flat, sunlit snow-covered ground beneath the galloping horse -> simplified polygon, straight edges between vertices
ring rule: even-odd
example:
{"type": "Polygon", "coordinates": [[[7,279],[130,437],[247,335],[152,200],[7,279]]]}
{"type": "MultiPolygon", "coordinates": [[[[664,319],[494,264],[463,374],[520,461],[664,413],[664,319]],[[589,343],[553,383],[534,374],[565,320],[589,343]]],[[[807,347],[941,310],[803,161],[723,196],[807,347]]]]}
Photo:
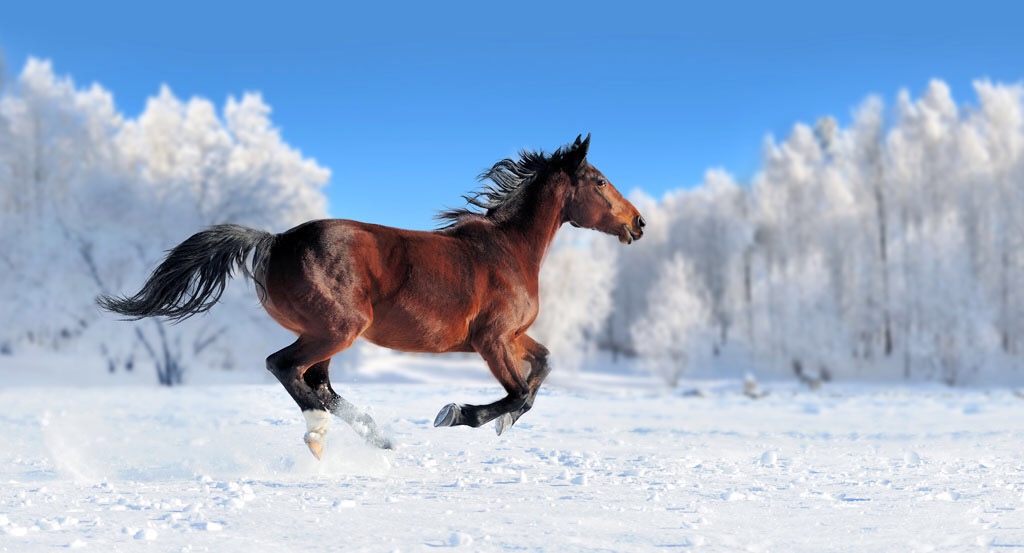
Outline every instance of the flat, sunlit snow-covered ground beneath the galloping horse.
{"type": "Polygon", "coordinates": [[[472,364],[415,363],[344,386],[399,449],[322,462],[278,385],[5,385],[0,551],[1024,551],[1013,390],[560,375],[498,437],[431,426],[496,397],[472,364]]]}

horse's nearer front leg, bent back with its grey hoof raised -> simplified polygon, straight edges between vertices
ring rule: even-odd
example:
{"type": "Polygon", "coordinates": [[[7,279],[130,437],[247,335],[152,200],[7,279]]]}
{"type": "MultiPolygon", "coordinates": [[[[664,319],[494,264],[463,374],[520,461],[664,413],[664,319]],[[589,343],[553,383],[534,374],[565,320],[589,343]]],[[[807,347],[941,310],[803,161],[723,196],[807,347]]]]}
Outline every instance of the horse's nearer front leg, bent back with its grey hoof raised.
{"type": "Polygon", "coordinates": [[[529,385],[523,377],[522,354],[511,340],[487,340],[476,345],[476,351],[487,363],[490,373],[498,379],[507,395],[485,406],[449,403],[434,419],[434,426],[481,426],[522,409],[529,397],[529,385]]]}

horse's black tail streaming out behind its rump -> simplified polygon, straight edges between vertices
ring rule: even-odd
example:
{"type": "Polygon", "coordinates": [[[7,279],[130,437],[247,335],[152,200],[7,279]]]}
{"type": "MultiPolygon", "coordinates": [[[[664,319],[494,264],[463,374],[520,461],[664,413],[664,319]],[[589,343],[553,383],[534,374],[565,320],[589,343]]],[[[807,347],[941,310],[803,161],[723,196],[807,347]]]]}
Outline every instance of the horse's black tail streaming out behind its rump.
{"type": "Polygon", "coordinates": [[[134,296],[100,296],[96,302],[131,318],[166,316],[183,321],[210,310],[236,268],[242,268],[265,292],[265,283],[260,280],[273,240],[274,235],[238,224],[211,226],[171,250],[134,296]],[[251,270],[246,266],[250,252],[251,270]]]}

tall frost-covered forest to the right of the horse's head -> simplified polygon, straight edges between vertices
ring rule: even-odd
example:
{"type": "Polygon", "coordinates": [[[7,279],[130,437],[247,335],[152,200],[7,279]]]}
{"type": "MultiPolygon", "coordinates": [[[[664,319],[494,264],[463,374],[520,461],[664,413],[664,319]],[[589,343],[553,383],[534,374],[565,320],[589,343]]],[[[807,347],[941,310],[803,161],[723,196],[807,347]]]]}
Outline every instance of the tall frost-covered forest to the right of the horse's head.
{"type": "MultiPolygon", "coordinates": [[[[683,256],[707,294],[710,344],[748,353],[759,371],[950,383],[981,367],[1013,371],[1024,336],[1024,86],[979,81],[975,92],[975,104],[957,103],[933,81],[891,109],[869,97],[847,127],[797,124],[766,140],[749,186],[710,172],[647,200],[649,240],[620,263],[683,256]]],[[[601,344],[644,355],[624,329],[657,308],[645,289],[666,283],[624,273],[601,344]]]]}

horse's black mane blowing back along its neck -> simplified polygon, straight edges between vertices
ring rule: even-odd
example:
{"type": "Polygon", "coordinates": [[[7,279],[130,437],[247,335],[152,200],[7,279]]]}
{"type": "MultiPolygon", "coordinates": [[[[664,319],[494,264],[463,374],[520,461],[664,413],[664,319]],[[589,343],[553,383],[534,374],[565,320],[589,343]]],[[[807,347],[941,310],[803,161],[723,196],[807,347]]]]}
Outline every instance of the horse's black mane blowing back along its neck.
{"type": "Polygon", "coordinates": [[[580,139],[577,138],[575,142],[559,147],[551,155],[545,154],[544,151],[521,150],[518,160],[506,158],[477,176],[477,180],[489,180],[490,184],[463,196],[469,204],[467,207],[441,211],[434,218],[440,221],[440,228],[443,229],[456,226],[466,219],[496,220],[500,219],[502,214],[515,213],[519,211],[525,197],[524,192],[529,185],[542,177],[566,168],[570,161],[579,161],[581,158],[573,154],[577,154],[580,147],[586,145],[581,146],[580,139]]]}

